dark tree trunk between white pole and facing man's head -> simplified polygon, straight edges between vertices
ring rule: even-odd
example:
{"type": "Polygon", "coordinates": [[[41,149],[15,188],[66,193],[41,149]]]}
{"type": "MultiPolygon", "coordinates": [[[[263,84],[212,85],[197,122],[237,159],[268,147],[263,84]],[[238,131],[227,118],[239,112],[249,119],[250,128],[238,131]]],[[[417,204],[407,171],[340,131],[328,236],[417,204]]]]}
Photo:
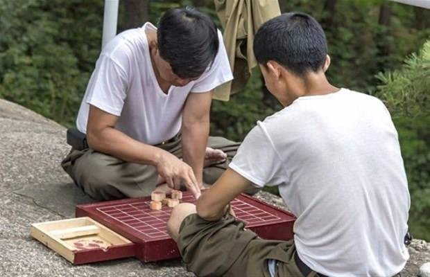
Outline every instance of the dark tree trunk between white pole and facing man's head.
{"type": "Polygon", "coordinates": [[[149,19],[149,0],[123,0],[123,30],[137,28],[149,19]]]}

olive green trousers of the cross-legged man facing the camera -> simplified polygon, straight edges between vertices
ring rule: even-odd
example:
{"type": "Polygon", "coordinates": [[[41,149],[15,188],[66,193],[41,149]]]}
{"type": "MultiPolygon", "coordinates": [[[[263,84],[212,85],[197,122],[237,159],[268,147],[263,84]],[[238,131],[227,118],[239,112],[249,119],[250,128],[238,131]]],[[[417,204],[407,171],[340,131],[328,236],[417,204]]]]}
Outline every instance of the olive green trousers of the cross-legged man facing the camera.
{"type": "MultiPolygon", "coordinates": [[[[203,181],[206,184],[213,184],[227,169],[239,145],[240,143],[222,137],[209,136],[207,146],[223,150],[227,159],[223,163],[204,168],[203,181]]],[[[169,143],[155,146],[182,158],[181,136],[175,136],[169,143]]],[[[129,163],[91,148],[71,149],[61,166],[76,186],[97,200],[148,196],[157,185],[158,175],[154,166],[129,163]]]]}

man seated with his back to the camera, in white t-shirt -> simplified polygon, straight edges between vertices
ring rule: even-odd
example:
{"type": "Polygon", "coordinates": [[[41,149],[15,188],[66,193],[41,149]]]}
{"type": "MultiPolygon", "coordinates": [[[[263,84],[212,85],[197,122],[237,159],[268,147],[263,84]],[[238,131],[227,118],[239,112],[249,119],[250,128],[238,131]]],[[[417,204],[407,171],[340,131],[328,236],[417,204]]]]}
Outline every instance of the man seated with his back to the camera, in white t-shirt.
{"type": "Polygon", "coordinates": [[[187,268],[198,276],[398,274],[408,260],[410,198],[386,107],[329,84],[325,34],[309,15],[266,22],[254,51],[284,109],[257,123],[196,206],[173,209],[167,225],[187,268]],[[227,213],[251,184],[279,185],[297,217],[293,240],[257,238],[227,213]]]}

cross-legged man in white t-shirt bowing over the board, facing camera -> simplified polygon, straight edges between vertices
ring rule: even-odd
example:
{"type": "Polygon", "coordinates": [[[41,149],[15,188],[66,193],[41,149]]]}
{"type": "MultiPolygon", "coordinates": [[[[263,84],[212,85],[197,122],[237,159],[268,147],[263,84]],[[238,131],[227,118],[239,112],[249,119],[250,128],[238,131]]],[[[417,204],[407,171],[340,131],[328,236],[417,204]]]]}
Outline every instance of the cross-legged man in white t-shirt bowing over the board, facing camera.
{"type": "Polygon", "coordinates": [[[212,91],[232,78],[221,32],[198,10],[175,8],[158,29],[120,33],[103,48],[79,109],[84,146],[62,167],[94,199],[149,195],[162,183],[198,197],[239,147],[208,139],[212,91]]]}

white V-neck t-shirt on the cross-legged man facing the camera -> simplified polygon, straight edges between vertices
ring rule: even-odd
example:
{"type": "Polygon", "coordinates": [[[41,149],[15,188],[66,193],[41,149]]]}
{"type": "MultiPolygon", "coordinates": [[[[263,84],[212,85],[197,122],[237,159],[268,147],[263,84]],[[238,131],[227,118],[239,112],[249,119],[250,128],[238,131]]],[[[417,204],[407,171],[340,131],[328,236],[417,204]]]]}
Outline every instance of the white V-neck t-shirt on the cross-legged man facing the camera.
{"type": "Polygon", "coordinates": [[[232,80],[232,72],[218,30],[219,48],[212,66],[196,81],[164,93],[155,78],[145,30],[157,30],[147,22],[126,30],[110,41],[96,62],[80,105],[76,125],[86,133],[89,104],[119,116],[116,129],[155,145],[178,134],[182,108],[188,94],[211,91],[232,80]]]}

